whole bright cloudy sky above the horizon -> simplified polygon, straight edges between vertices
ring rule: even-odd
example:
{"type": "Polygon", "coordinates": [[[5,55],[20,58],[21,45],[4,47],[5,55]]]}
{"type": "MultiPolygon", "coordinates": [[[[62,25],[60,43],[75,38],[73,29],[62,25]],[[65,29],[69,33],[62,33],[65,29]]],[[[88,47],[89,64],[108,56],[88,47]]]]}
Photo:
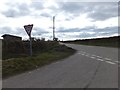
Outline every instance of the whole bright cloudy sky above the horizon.
{"type": "Polygon", "coordinates": [[[33,37],[52,40],[53,16],[56,16],[55,36],[59,40],[118,35],[117,2],[2,0],[0,36],[12,34],[28,39],[23,26],[33,24],[33,37]]]}

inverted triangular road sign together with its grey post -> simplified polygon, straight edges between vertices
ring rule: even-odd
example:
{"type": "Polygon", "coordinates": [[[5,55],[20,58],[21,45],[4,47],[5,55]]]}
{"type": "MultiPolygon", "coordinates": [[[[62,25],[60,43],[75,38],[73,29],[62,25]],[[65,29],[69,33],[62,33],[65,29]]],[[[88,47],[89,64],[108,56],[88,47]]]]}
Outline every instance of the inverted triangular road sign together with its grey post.
{"type": "Polygon", "coordinates": [[[24,25],[24,29],[27,32],[29,39],[30,39],[30,56],[32,56],[32,39],[31,39],[32,28],[33,28],[33,24],[24,25]]]}

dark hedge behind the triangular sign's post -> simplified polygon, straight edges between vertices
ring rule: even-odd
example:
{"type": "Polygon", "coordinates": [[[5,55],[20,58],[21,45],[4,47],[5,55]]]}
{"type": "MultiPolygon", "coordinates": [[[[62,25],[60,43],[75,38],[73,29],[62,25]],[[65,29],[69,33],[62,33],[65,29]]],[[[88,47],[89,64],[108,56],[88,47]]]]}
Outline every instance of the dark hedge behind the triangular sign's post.
{"type": "MultiPolygon", "coordinates": [[[[49,51],[52,47],[58,45],[58,42],[44,41],[44,40],[33,40],[32,50],[33,55],[37,53],[43,53],[49,51]]],[[[29,55],[29,41],[4,41],[3,40],[3,51],[2,59],[25,57],[29,55]]]]}

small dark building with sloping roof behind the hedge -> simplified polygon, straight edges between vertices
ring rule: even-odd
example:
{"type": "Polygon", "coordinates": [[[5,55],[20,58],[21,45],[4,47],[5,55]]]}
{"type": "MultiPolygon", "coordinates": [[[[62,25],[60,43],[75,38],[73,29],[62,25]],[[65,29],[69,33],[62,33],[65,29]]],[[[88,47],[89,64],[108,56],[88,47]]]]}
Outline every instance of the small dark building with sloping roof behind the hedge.
{"type": "Polygon", "coordinates": [[[2,37],[4,40],[8,40],[8,41],[21,41],[22,40],[22,37],[9,35],[9,34],[4,34],[2,35],[2,37]]]}

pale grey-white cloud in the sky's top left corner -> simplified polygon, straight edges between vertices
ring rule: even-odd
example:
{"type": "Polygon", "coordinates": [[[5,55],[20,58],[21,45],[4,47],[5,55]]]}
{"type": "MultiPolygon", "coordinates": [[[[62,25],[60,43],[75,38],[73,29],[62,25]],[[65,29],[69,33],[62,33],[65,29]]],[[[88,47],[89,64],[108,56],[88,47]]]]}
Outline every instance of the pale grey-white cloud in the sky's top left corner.
{"type": "MultiPolygon", "coordinates": [[[[43,2],[40,1],[32,1],[31,3],[27,2],[7,2],[5,3],[7,9],[2,10],[2,14],[6,17],[22,17],[27,15],[32,15],[36,11],[43,9],[43,2]]],[[[34,14],[33,14],[34,15],[34,14]]]]}

